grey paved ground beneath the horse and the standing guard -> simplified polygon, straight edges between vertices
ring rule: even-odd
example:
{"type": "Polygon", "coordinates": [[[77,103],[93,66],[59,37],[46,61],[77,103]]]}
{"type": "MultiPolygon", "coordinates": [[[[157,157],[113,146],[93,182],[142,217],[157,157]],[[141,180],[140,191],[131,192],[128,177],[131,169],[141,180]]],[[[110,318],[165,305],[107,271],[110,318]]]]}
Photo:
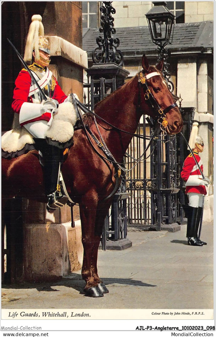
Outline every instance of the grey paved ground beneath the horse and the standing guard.
{"type": "Polygon", "coordinates": [[[203,223],[206,246],[188,246],[185,235],[186,225],[176,233],[129,228],[131,248],[98,253],[109,294],[86,297],[77,271],[55,282],[2,285],[2,309],[212,309],[213,222],[203,223]]]}

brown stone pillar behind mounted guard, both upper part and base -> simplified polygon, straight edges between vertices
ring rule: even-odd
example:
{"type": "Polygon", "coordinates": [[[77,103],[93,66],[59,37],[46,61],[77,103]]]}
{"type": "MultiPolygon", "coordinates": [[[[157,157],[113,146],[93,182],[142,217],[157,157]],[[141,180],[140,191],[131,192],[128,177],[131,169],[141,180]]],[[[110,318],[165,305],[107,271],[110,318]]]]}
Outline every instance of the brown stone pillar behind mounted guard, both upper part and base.
{"type": "MultiPolygon", "coordinates": [[[[42,22],[50,42],[49,69],[66,95],[76,93],[83,101],[83,69],[88,63],[81,49],[81,20],[81,2],[46,2],[42,22]]],[[[68,206],[50,214],[45,204],[24,200],[23,222],[25,280],[58,279],[81,269],[81,225],[78,221],[71,227],[68,206]]]]}

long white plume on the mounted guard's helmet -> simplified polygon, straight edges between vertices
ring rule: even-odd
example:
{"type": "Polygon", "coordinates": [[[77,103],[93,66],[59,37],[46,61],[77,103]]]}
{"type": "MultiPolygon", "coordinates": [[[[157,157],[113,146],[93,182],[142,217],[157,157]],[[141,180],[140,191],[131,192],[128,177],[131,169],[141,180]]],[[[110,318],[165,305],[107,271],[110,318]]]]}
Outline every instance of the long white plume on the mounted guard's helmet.
{"type": "Polygon", "coordinates": [[[44,37],[44,28],[42,24],[42,17],[40,15],[33,15],[32,22],[29,27],[29,32],[26,39],[26,48],[24,54],[24,61],[32,61],[32,52],[35,50],[35,59],[39,60],[39,38],[44,37]]]}

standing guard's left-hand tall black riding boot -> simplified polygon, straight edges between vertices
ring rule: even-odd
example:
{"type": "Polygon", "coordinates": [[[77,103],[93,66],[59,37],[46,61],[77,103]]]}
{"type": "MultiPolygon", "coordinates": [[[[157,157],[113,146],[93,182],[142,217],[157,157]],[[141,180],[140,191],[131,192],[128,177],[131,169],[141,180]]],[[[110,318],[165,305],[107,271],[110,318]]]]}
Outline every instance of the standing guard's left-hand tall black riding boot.
{"type": "Polygon", "coordinates": [[[197,207],[190,207],[188,210],[188,217],[187,217],[187,242],[188,245],[191,246],[202,246],[203,244],[197,240],[195,237],[195,225],[196,225],[196,217],[197,217],[198,208],[197,207]]]}

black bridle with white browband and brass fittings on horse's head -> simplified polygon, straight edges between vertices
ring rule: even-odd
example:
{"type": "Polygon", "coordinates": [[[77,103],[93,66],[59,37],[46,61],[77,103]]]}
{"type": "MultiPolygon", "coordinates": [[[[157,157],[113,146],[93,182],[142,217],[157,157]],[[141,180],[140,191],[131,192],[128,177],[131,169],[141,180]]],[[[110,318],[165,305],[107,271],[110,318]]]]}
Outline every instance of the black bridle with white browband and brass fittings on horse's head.
{"type": "MultiPolygon", "coordinates": [[[[166,120],[166,113],[168,113],[168,111],[170,111],[171,109],[175,108],[175,106],[177,106],[177,103],[174,102],[173,104],[169,105],[164,110],[162,110],[160,108],[160,106],[158,105],[156,99],[152,95],[152,93],[151,93],[151,91],[150,91],[150,89],[149,89],[149,87],[146,83],[146,80],[152,78],[153,76],[162,76],[162,75],[159,72],[154,71],[154,72],[151,72],[150,74],[147,74],[145,76],[144,73],[143,73],[143,70],[141,70],[139,72],[138,84],[141,85],[141,86],[139,86],[139,88],[142,87],[143,90],[144,90],[145,100],[149,103],[149,105],[153,108],[153,110],[157,112],[157,115],[156,115],[157,121],[160,125],[161,131],[166,132],[166,127],[168,125],[168,121],[166,120]]],[[[139,104],[140,104],[140,99],[141,99],[141,90],[139,90],[139,104]]]]}

